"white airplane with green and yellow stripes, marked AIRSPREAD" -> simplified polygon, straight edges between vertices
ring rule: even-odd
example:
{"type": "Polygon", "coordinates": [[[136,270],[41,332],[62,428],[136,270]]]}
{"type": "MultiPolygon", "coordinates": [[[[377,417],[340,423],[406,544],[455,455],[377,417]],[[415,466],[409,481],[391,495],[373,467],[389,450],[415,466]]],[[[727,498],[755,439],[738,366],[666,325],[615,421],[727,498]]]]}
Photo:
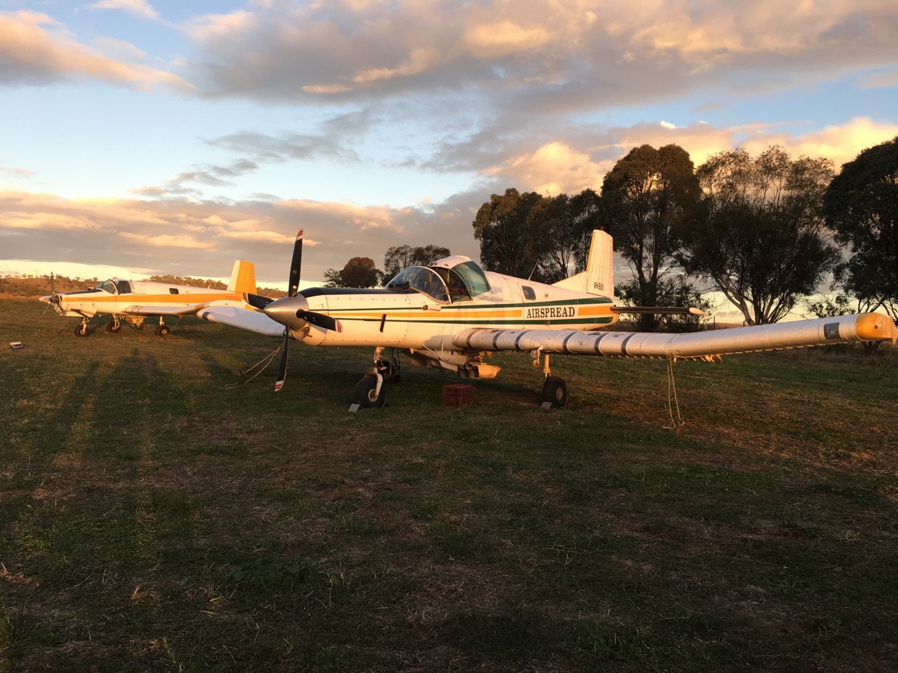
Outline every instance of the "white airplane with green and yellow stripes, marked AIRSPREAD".
{"type": "Polygon", "coordinates": [[[302,252],[300,230],[286,297],[247,295],[257,313],[209,306],[198,315],[284,337],[275,390],[286,379],[291,337],[306,345],[374,346],[371,371],[355,389],[357,404],[365,407],[384,405],[383,382],[400,373],[396,350],[412,363],[471,379],[497,375],[499,367],[486,362],[489,354],[528,352],[534,367],[544,358],[544,402],[564,406],[567,385],[551,375],[550,354],[713,361],[723,354],[898,340],[893,320],[878,313],[687,334],[608,331],[603,328],[621,313],[700,311],[615,303],[612,237],[602,230],[593,232],[586,270],[550,285],[484,271],[471,258],[454,255],[429,267],[409,267],[382,289],[313,287],[300,293],[302,252]],[[386,348],[394,349],[392,358],[384,356],[386,348]]]}

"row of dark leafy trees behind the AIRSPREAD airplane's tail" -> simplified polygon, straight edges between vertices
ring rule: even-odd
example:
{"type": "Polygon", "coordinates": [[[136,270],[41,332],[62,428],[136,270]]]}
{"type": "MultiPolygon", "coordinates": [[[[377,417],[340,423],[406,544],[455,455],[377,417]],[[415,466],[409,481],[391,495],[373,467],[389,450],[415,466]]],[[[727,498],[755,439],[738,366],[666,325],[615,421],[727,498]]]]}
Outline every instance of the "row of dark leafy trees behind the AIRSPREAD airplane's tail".
{"type": "MultiPolygon", "coordinates": [[[[643,306],[701,306],[697,283],[726,296],[751,325],[776,322],[832,277],[817,310],[898,308],[898,138],[832,162],[779,146],[709,157],[679,145],[633,148],[602,191],[543,197],[506,189],[472,223],[483,267],[552,283],[585,267],[603,226],[632,272],[615,291],[643,306]]],[[[658,318],[640,316],[640,328],[658,318]]]]}

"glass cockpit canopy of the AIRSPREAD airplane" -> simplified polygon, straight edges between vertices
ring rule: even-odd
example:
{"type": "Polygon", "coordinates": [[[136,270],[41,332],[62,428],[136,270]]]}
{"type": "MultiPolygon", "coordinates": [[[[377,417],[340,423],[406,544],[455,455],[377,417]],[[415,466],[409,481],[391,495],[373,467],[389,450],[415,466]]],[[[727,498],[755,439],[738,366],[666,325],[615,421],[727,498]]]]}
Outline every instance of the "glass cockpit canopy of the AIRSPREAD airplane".
{"type": "Polygon", "coordinates": [[[415,290],[437,302],[470,302],[489,292],[489,281],[477,263],[463,255],[437,259],[431,267],[409,267],[387,285],[391,290],[415,290]]]}

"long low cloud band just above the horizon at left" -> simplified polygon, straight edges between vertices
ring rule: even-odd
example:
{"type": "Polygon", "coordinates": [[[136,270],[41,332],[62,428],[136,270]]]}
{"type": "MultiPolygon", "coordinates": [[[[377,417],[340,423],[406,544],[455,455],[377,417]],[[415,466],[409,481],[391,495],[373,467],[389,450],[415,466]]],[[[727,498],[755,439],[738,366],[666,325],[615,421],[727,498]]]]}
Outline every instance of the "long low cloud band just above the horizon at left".
{"type": "MultiPolygon", "coordinates": [[[[4,258],[154,269],[219,277],[237,258],[256,264],[260,282],[286,280],[296,231],[315,250],[304,257],[304,280],[321,283],[326,268],[342,268],[365,254],[380,263],[386,249],[409,242],[445,245],[452,228],[422,240],[416,231],[438,215],[413,208],[289,201],[67,199],[53,194],[0,191],[0,248],[4,258]],[[110,252],[111,251],[111,252],[110,252]]],[[[476,251],[465,228],[467,254],[476,251]]]]}

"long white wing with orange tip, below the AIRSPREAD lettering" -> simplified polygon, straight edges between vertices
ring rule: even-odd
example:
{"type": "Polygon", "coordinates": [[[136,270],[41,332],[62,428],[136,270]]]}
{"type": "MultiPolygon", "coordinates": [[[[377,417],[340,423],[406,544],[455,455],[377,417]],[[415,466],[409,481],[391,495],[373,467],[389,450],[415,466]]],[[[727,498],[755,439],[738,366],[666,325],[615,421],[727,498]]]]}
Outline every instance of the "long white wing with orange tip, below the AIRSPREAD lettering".
{"type": "Polygon", "coordinates": [[[898,341],[894,321],[880,313],[859,313],[686,334],[472,328],[455,335],[453,343],[486,351],[539,349],[543,353],[712,360],[726,354],[885,339],[898,341]]]}

